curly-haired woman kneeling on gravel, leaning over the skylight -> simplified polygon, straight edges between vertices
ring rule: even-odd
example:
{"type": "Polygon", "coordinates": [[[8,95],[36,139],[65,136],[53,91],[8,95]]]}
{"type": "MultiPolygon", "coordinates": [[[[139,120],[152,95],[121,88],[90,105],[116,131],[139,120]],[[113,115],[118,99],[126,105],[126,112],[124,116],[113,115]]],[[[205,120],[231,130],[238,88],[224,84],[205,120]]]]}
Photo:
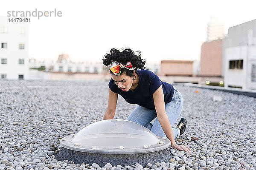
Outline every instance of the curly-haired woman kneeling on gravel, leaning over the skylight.
{"type": "Polygon", "coordinates": [[[138,105],[127,120],[147,127],[157,136],[167,136],[173,148],[192,153],[188,146],[175,142],[186,129],[186,119],[180,119],[177,127],[172,127],[183,107],[180,92],[160,81],[153,72],[144,70],[145,60],[140,58],[140,52],[136,55],[129,48],[121,52],[113,48],[102,60],[112,77],[108,84],[108,108],[104,119],[113,119],[120,94],[126,102],[138,105]]]}

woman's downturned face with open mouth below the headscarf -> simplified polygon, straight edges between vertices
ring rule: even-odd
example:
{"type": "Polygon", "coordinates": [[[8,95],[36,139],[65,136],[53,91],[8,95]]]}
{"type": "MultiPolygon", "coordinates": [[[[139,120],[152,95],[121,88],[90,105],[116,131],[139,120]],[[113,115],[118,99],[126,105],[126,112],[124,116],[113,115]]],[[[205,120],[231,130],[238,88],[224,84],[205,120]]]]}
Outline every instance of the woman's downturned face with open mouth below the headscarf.
{"type": "Polygon", "coordinates": [[[116,76],[114,74],[111,74],[112,79],[118,86],[118,88],[121,88],[122,91],[129,91],[131,89],[133,78],[124,74],[121,74],[120,76],[116,76]]]}

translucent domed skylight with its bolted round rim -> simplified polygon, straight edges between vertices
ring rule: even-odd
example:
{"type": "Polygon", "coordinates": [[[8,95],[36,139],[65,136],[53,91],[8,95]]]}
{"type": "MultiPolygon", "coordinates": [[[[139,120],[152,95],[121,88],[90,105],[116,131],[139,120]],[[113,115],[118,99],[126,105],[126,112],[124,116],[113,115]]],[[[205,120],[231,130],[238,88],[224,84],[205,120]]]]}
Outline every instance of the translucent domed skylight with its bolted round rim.
{"type": "Polygon", "coordinates": [[[90,153],[145,153],[170,146],[169,139],[157,137],[137,123],[108,119],[81,129],[75,136],[66,136],[61,146],[90,153]]]}

